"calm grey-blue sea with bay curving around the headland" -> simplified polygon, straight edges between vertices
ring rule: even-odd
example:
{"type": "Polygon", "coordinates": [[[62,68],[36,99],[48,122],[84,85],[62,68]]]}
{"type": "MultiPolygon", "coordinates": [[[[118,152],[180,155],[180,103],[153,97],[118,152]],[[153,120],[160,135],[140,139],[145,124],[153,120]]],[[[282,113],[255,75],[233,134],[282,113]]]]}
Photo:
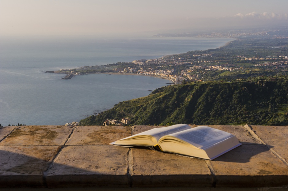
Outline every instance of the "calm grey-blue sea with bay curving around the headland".
{"type": "Polygon", "coordinates": [[[159,77],[88,74],[63,80],[45,73],[132,62],[224,46],[229,38],[154,36],[0,37],[0,124],[64,125],[148,96],[159,77]]]}

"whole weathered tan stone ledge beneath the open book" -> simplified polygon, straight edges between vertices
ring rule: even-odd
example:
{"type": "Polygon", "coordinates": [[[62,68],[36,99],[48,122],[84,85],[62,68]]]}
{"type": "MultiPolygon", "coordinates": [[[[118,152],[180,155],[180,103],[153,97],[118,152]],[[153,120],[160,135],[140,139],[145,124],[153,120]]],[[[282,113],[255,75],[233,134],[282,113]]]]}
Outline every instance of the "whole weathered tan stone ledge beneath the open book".
{"type": "Polygon", "coordinates": [[[0,187],[288,185],[288,126],[210,126],[243,145],[209,161],[108,145],[154,126],[0,127],[0,187]]]}

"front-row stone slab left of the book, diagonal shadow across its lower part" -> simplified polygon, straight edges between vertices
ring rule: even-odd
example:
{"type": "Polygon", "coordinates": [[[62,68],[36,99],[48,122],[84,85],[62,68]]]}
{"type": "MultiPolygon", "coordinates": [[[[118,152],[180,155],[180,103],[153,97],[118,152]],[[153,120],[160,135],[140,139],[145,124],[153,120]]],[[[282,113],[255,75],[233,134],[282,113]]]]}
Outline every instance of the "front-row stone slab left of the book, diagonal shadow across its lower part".
{"type": "Polygon", "coordinates": [[[66,146],[46,172],[53,187],[127,187],[129,148],[112,145],[66,146]]]}

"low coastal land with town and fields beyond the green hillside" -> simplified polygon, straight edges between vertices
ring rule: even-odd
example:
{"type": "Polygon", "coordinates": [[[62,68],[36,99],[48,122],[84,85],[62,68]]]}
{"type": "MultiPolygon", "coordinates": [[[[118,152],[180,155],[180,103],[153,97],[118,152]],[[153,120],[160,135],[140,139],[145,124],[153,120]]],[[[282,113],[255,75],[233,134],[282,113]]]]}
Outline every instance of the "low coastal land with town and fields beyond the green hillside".
{"type": "MultiPolygon", "coordinates": [[[[47,71],[67,74],[62,79],[90,73],[149,75],[169,79],[171,84],[194,81],[249,80],[253,77],[286,76],[288,54],[286,28],[232,30],[226,32],[169,34],[171,37],[233,38],[223,47],[138,59],[108,65],[47,71]]],[[[163,34],[155,35],[162,37],[163,34]]],[[[164,35],[164,36],[167,36],[164,35]]]]}

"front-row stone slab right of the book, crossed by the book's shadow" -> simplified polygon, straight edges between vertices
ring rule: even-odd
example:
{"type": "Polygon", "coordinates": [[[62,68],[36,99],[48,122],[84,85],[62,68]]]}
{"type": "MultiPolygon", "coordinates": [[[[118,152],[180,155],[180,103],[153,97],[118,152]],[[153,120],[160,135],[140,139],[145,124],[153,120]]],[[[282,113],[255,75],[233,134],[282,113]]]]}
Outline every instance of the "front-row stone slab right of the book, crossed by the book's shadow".
{"type": "Polygon", "coordinates": [[[288,185],[288,167],[263,144],[243,144],[210,163],[216,187],[288,185]]]}

